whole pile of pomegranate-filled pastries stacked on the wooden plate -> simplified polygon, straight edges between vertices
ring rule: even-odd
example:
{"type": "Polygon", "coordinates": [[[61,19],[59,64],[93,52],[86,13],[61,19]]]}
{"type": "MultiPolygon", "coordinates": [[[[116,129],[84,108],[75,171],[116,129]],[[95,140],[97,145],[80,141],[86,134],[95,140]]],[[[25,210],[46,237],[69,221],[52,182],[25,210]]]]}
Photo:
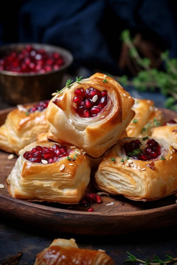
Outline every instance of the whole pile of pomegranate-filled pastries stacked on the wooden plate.
{"type": "Polygon", "coordinates": [[[18,142],[25,139],[23,145],[15,143],[11,149],[5,147],[6,151],[17,152],[27,143],[38,141],[20,151],[8,177],[11,196],[78,203],[89,184],[93,165],[99,165],[95,174],[97,187],[110,194],[145,201],[176,192],[172,163],[177,159],[177,128],[175,121],[160,126],[162,113],[153,101],[136,99],[134,105],[134,99],[118,82],[100,73],[72,84],[68,81],[55,94],[46,111],[49,130],[39,129],[40,123],[32,127],[34,130],[39,126],[34,131],[42,133],[40,137],[35,133],[35,139],[29,137],[26,141],[28,119],[36,115],[40,120],[38,110],[28,111],[29,115],[20,112],[23,118],[19,115],[18,123],[26,120],[24,131],[20,127],[18,132],[14,129],[11,113],[2,126],[6,126],[6,138],[5,133],[1,135],[7,146],[13,145],[10,135],[15,135],[18,142]],[[126,133],[129,138],[124,138],[126,133]],[[174,136],[171,141],[169,133],[174,136]]]}

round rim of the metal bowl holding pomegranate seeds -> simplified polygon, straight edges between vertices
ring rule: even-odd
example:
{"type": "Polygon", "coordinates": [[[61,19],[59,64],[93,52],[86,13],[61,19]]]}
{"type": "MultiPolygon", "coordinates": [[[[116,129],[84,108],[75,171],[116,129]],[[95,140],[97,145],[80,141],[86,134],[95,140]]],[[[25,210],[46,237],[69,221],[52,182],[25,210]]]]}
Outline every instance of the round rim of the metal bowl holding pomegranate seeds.
{"type": "Polygon", "coordinates": [[[55,46],[52,44],[48,44],[48,43],[39,43],[39,42],[16,42],[16,43],[10,43],[10,44],[5,44],[5,45],[1,45],[0,46],[0,51],[3,51],[4,49],[7,48],[13,48],[19,45],[40,45],[42,47],[48,46],[51,48],[55,48],[56,50],[58,50],[58,53],[60,53],[61,55],[65,55],[68,59],[67,62],[65,62],[59,69],[57,70],[52,70],[49,72],[45,72],[45,73],[39,73],[39,72],[30,72],[30,73],[18,73],[18,72],[12,72],[12,71],[6,71],[6,70],[0,70],[0,74],[4,74],[4,75],[8,75],[8,76],[21,76],[21,77],[29,77],[29,76],[41,76],[41,75],[48,75],[48,74],[52,74],[52,73],[56,73],[59,72],[60,70],[64,70],[67,67],[69,67],[72,62],[73,62],[73,55],[70,51],[68,51],[67,49],[60,47],[60,46],[55,46]]]}

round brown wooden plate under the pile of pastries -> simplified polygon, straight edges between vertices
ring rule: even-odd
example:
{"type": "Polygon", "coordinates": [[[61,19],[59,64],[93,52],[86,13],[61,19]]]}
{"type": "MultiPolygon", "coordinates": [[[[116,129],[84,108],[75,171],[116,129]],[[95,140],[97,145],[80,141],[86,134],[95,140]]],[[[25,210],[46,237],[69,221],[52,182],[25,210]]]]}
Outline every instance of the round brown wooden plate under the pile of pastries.
{"type": "MultiPolygon", "coordinates": [[[[0,111],[0,125],[8,112],[0,111]]],[[[177,113],[162,109],[165,121],[177,117],[177,113]]],[[[8,160],[8,153],[0,151],[0,189],[1,215],[12,221],[34,225],[43,229],[63,233],[107,235],[123,234],[176,224],[177,204],[175,195],[154,202],[130,201],[123,196],[103,197],[102,204],[94,204],[95,212],[85,212],[81,205],[59,203],[32,203],[13,199],[7,191],[6,178],[12,170],[17,157],[8,160]],[[113,205],[106,204],[114,202],[113,205]]]]}

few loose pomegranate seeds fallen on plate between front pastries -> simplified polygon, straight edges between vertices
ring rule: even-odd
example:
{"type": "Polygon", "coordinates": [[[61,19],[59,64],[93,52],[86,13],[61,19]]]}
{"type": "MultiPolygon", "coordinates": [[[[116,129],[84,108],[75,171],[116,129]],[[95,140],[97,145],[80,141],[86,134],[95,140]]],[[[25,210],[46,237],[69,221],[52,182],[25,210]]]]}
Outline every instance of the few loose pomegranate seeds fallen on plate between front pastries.
{"type": "MultiPolygon", "coordinates": [[[[84,198],[80,201],[80,204],[88,207],[91,203],[102,203],[102,197],[94,192],[86,192],[84,198]]],[[[87,211],[94,212],[94,209],[89,208],[87,211]]]]}

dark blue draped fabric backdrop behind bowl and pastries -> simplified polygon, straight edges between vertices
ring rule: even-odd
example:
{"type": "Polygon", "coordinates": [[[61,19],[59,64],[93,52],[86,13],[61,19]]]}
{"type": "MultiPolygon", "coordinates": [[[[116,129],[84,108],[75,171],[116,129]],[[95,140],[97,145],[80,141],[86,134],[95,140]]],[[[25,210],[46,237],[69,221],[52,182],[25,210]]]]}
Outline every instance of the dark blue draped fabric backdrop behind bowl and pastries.
{"type": "MultiPolygon", "coordinates": [[[[4,2],[4,1],[3,1],[4,2]]],[[[141,32],[177,57],[175,7],[169,0],[29,0],[3,3],[0,44],[43,42],[67,48],[75,67],[120,73],[123,29],[141,32]]]]}

